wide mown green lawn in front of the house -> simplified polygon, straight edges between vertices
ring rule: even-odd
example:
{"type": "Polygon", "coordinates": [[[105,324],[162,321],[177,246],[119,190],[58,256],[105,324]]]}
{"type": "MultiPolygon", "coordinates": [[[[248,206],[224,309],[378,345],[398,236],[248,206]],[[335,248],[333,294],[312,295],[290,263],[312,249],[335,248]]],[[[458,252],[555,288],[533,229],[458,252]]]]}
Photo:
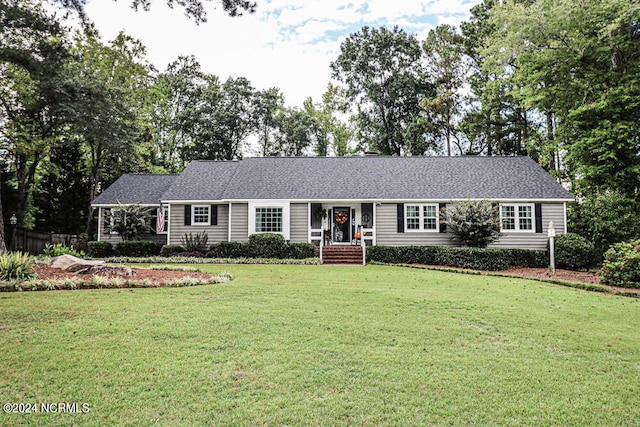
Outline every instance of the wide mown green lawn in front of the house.
{"type": "Polygon", "coordinates": [[[640,302],[400,267],[0,294],[0,425],[640,425],[640,302]],[[71,407],[74,409],[74,407],[71,407]]]}

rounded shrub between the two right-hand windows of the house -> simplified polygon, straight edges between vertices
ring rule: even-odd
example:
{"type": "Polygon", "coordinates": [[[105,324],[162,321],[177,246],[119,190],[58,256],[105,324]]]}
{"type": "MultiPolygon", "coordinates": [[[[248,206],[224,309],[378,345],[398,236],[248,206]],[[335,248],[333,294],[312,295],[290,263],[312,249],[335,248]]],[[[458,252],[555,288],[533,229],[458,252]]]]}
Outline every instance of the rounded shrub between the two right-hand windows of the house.
{"type": "Polygon", "coordinates": [[[464,246],[485,248],[500,237],[500,213],[487,200],[456,202],[443,212],[447,232],[464,246]]]}

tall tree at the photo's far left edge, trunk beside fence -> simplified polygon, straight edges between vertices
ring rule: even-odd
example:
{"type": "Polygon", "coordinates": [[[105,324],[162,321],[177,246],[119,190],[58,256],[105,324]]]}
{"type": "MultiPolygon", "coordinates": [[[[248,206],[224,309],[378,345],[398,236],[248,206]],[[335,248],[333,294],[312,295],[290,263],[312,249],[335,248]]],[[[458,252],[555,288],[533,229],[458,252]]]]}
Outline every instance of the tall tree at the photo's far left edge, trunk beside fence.
{"type": "Polygon", "coordinates": [[[69,57],[65,30],[39,4],[0,3],[2,155],[14,172],[18,225],[32,222],[27,213],[38,167],[58,142],[69,57]]]}

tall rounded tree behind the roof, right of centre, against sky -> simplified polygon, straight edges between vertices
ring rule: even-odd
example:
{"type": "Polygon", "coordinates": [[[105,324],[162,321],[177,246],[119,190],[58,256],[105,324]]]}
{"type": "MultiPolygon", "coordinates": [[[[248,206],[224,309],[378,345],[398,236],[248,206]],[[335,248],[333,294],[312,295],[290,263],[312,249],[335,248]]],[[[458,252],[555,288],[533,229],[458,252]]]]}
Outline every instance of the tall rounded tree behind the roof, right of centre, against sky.
{"type": "Polygon", "coordinates": [[[397,27],[364,27],[342,43],[332,76],[355,104],[361,144],[388,155],[433,148],[421,118],[420,101],[434,93],[423,59],[417,38],[397,27]]]}

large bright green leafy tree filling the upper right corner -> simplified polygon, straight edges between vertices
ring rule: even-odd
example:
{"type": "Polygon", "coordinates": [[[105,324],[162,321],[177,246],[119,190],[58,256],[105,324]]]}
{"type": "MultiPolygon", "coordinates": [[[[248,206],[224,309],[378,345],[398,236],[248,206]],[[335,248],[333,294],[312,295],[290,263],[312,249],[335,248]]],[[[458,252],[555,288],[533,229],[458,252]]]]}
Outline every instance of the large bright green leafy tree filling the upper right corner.
{"type": "Polygon", "coordinates": [[[544,117],[550,166],[566,150],[577,189],[637,197],[640,1],[505,2],[492,15],[483,53],[544,117]]]}

